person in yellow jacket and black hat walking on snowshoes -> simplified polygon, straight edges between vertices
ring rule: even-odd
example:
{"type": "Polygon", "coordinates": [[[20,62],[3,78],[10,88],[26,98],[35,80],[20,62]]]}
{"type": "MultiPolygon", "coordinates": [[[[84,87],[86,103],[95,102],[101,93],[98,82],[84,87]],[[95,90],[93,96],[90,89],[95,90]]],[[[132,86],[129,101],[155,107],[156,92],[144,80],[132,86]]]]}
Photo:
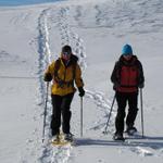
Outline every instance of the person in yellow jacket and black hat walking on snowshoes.
{"type": "Polygon", "coordinates": [[[82,71],[77,63],[78,58],[72,53],[70,46],[62,48],[61,57],[53,61],[45,73],[45,82],[51,82],[51,98],[52,98],[52,118],[51,134],[52,138],[57,139],[60,135],[61,115],[62,115],[62,131],[65,139],[71,139],[71,103],[76,91],[76,84],[79,96],[85,96],[84,82],[82,71]]]}

